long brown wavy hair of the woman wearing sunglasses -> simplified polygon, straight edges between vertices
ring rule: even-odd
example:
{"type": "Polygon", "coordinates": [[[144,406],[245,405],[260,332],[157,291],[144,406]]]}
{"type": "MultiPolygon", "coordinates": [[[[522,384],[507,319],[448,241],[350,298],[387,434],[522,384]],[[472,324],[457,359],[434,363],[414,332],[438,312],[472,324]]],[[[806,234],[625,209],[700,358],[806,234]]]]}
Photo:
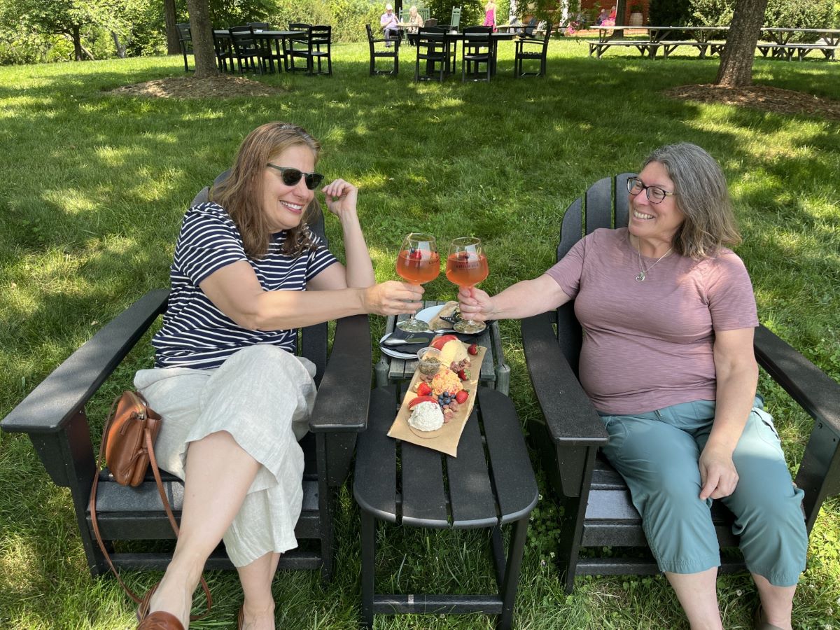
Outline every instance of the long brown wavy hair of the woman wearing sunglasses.
{"type": "MultiPolygon", "coordinates": [[[[239,145],[230,175],[210,192],[210,200],[227,210],[239,228],[249,258],[265,256],[271,240],[272,230],[262,208],[265,165],[286,149],[301,145],[311,149],[318,162],[321,144],[305,129],[290,123],[266,123],[254,129],[239,145]]],[[[283,254],[299,256],[315,248],[307,223],[318,212],[320,206],[313,197],[303,209],[301,223],[286,230],[286,241],[281,248],[283,254]]]]}

